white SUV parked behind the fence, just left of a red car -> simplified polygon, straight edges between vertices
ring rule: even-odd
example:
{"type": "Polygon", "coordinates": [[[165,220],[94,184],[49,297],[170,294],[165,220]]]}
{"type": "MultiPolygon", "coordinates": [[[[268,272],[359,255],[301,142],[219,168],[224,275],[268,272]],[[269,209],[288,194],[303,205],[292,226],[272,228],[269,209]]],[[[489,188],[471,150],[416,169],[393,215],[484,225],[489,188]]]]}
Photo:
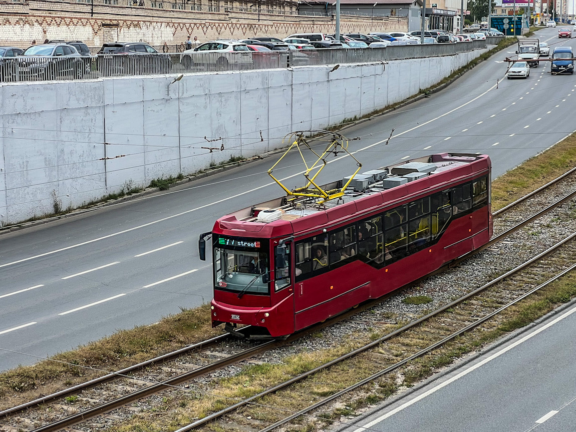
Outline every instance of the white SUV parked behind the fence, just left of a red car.
{"type": "MultiPolygon", "coordinates": [[[[258,45],[266,46],[267,42],[258,45]]],[[[252,54],[245,43],[214,40],[183,52],[182,65],[188,69],[195,66],[217,68],[220,70],[245,69],[252,65],[252,54]]]]}

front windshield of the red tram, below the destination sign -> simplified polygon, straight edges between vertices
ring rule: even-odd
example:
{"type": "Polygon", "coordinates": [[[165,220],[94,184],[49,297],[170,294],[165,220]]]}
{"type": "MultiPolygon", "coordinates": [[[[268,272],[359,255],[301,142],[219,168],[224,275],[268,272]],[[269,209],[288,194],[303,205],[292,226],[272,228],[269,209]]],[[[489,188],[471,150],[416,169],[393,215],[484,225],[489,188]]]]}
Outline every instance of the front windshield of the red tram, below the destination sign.
{"type": "Polygon", "coordinates": [[[270,270],[268,253],[214,248],[214,276],[217,289],[238,294],[268,294],[270,270]]]}

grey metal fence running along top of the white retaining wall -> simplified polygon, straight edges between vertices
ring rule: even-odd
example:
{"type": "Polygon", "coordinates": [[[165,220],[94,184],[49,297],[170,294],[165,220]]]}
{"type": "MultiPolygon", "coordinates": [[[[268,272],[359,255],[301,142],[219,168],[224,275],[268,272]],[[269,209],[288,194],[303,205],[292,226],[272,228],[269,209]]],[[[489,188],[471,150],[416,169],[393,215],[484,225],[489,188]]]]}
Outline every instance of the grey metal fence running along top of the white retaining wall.
{"type": "MultiPolygon", "coordinates": [[[[502,38],[492,38],[502,39],[502,38]]],[[[290,51],[187,52],[168,54],[98,54],[87,57],[20,56],[0,59],[0,81],[46,81],[134,75],[278,69],[291,66],[377,62],[453,55],[485,48],[497,40],[386,48],[290,51]]]]}

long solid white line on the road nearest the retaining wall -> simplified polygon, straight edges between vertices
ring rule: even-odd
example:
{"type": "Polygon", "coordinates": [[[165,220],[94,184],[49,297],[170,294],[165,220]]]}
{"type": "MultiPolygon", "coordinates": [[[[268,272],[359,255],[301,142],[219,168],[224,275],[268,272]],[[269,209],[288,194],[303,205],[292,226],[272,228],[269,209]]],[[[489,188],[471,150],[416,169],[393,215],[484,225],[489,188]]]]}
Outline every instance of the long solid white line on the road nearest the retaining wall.
{"type": "MultiPolygon", "coordinates": [[[[435,122],[435,121],[438,120],[438,119],[441,119],[441,118],[443,118],[443,117],[445,117],[445,116],[447,116],[447,115],[449,115],[449,114],[452,114],[453,112],[458,111],[458,109],[464,108],[466,105],[469,105],[469,104],[471,104],[472,102],[477,101],[479,98],[481,98],[482,96],[484,96],[485,94],[487,94],[487,93],[490,92],[491,90],[494,90],[495,88],[497,88],[498,84],[501,84],[501,83],[504,81],[504,79],[505,79],[504,77],[501,78],[501,79],[499,79],[499,80],[496,82],[496,84],[492,85],[488,90],[486,90],[486,92],[480,93],[478,96],[473,97],[473,98],[472,98],[471,100],[469,100],[468,102],[465,102],[465,103],[463,103],[462,105],[460,105],[460,106],[458,106],[458,107],[456,107],[456,108],[450,109],[450,111],[446,111],[444,114],[441,114],[441,115],[439,115],[439,116],[437,116],[437,117],[435,117],[435,118],[433,118],[433,119],[427,120],[427,121],[424,122],[424,123],[420,123],[420,124],[418,124],[418,126],[414,126],[414,127],[410,128],[410,129],[408,129],[408,130],[405,130],[404,132],[400,132],[399,134],[393,135],[392,137],[389,137],[389,138],[386,138],[386,139],[382,139],[381,141],[377,141],[377,142],[375,142],[375,143],[373,143],[373,144],[367,145],[366,147],[362,147],[361,149],[352,151],[351,154],[356,154],[356,153],[359,153],[359,152],[364,151],[364,150],[372,149],[372,147],[377,146],[377,145],[380,145],[380,144],[383,143],[383,142],[389,141],[389,140],[392,139],[392,138],[401,137],[402,135],[408,134],[409,132],[412,132],[412,131],[420,128],[420,127],[426,126],[426,125],[429,124],[429,123],[435,122]]],[[[504,108],[504,109],[506,109],[506,108],[504,108]]],[[[337,162],[337,161],[339,161],[340,159],[343,159],[344,157],[347,157],[347,155],[346,155],[346,156],[340,156],[340,157],[334,158],[334,159],[332,159],[331,161],[328,161],[327,164],[332,164],[333,162],[337,162]]],[[[293,175],[290,175],[290,176],[287,176],[287,177],[283,177],[283,178],[280,179],[280,180],[292,179],[293,177],[302,175],[302,173],[304,173],[304,171],[300,171],[300,172],[297,172],[297,173],[295,173],[295,174],[293,174],[293,175]]],[[[247,190],[247,191],[244,191],[244,192],[240,192],[240,194],[236,194],[236,195],[232,195],[232,196],[226,196],[225,198],[219,199],[219,200],[217,200],[217,201],[214,201],[214,202],[211,202],[211,203],[208,203],[208,204],[204,204],[203,206],[195,207],[194,209],[190,209],[190,210],[182,211],[181,213],[176,213],[176,214],[173,214],[173,215],[170,215],[170,216],[166,216],[165,218],[157,219],[156,221],[151,221],[151,222],[148,222],[148,223],[144,223],[143,225],[132,226],[132,228],[128,228],[128,229],[125,229],[125,230],[122,230],[122,231],[119,231],[119,232],[116,232],[116,233],[108,234],[107,236],[98,237],[98,238],[93,238],[92,240],[88,240],[88,241],[84,241],[84,242],[81,242],[81,243],[73,244],[73,245],[67,246],[67,247],[65,247],[65,248],[56,249],[55,251],[44,252],[44,253],[40,253],[40,255],[29,256],[28,258],[22,258],[21,260],[13,261],[13,262],[6,263],[6,264],[0,264],[0,268],[2,268],[2,267],[7,267],[7,266],[13,266],[14,264],[23,263],[23,262],[26,262],[26,261],[29,261],[29,260],[33,260],[33,259],[40,258],[40,257],[43,257],[43,256],[47,256],[47,255],[52,255],[52,254],[54,254],[54,253],[58,253],[58,252],[62,252],[62,251],[67,251],[68,249],[73,249],[73,248],[77,248],[77,247],[80,247],[80,246],[84,246],[84,245],[93,243],[93,242],[95,242],[95,241],[105,240],[106,238],[116,237],[116,236],[119,236],[120,234],[126,234],[126,233],[129,233],[129,232],[134,231],[134,230],[137,230],[137,229],[146,228],[146,226],[155,225],[156,223],[160,223],[160,222],[164,222],[164,221],[169,221],[170,219],[177,218],[177,217],[183,216],[183,215],[188,214],[188,213],[192,213],[193,211],[206,209],[206,207],[211,207],[211,206],[214,206],[215,204],[223,203],[223,202],[229,201],[230,199],[233,199],[233,198],[238,198],[238,196],[243,196],[243,195],[251,194],[252,192],[259,191],[260,189],[263,189],[263,188],[265,188],[265,187],[268,187],[268,186],[271,186],[271,185],[274,185],[274,184],[276,184],[276,182],[275,182],[275,181],[271,181],[270,183],[265,183],[265,184],[260,185],[260,186],[258,186],[258,187],[252,188],[252,189],[250,189],[250,190],[247,190]]]]}

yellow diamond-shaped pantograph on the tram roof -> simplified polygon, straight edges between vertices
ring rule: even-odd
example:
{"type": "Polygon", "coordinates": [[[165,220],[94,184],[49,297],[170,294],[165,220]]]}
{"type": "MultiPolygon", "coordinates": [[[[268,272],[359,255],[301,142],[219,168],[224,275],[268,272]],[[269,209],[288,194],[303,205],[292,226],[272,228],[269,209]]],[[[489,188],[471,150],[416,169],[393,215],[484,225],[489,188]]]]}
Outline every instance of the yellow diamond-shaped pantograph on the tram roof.
{"type": "Polygon", "coordinates": [[[348,151],[348,139],[343,137],[336,132],[329,132],[324,130],[308,130],[308,131],[297,131],[292,132],[291,134],[286,135],[282,140],[282,143],[289,141],[291,142],[288,149],[285,151],[284,154],[279,158],[279,160],[272,165],[272,168],[268,170],[268,175],[272,177],[272,179],[280,185],[280,187],[286,191],[286,194],[289,196],[307,196],[310,198],[319,198],[317,201],[318,204],[324,203],[328,200],[339,198],[340,196],[344,195],[344,191],[350,184],[350,182],[354,179],[354,176],[358,174],[359,170],[362,168],[362,164],[355,158],[350,151],[348,151]],[[306,140],[305,135],[314,135],[314,134],[322,134],[323,137],[321,138],[314,138],[314,141],[327,141],[328,145],[325,147],[322,154],[318,154],[312,147],[310,146],[309,142],[306,140]],[[285,185],[281,183],[280,180],[276,179],[272,175],[272,170],[282,161],[282,159],[289,153],[290,150],[294,149],[294,147],[300,153],[302,157],[302,161],[304,162],[304,166],[306,166],[306,170],[304,171],[304,177],[306,178],[306,185],[303,187],[295,188],[293,190],[289,190],[285,185]],[[317,160],[312,164],[308,165],[306,159],[304,157],[303,151],[312,151],[314,155],[316,155],[317,160]],[[338,153],[347,153],[348,156],[356,161],[356,165],[358,169],[355,170],[354,174],[350,176],[350,179],[343,184],[341,188],[336,188],[332,190],[324,190],[316,183],[316,177],[320,174],[321,170],[327,164],[326,158],[329,155],[338,156],[338,153]]]}

